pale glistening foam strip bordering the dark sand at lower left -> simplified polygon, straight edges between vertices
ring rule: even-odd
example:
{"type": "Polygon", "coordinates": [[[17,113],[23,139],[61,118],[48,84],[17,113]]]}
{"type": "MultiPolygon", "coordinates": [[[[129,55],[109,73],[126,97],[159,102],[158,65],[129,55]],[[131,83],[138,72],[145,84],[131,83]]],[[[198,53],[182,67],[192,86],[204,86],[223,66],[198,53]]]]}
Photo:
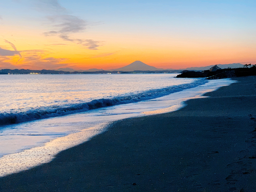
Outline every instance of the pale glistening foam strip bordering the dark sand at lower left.
{"type": "Polygon", "coordinates": [[[60,151],[86,142],[92,137],[103,133],[106,130],[107,124],[102,123],[90,129],[81,130],[78,133],[58,137],[45,143],[44,146],[30,148],[20,153],[4,155],[0,158],[0,177],[27,170],[42,163],[48,163],[60,151]]]}

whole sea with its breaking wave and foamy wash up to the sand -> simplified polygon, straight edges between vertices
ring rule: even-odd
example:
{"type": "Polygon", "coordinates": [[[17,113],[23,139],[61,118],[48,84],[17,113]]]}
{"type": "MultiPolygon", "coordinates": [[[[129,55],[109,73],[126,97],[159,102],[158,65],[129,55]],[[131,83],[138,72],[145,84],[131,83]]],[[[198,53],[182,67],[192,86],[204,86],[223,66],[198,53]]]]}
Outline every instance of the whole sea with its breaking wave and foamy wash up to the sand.
{"type": "Polygon", "coordinates": [[[177,74],[0,76],[0,176],[88,141],[116,120],[179,110],[235,82],[177,74]]]}

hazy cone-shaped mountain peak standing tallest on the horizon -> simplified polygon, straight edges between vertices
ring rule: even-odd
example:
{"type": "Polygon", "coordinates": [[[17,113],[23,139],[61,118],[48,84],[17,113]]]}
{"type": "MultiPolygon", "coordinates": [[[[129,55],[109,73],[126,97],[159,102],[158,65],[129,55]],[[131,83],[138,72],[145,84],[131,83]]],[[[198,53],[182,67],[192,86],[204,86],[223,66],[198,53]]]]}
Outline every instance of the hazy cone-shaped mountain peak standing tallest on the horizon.
{"type": "Polygon", "coordinates": [[[164,69],[158,69],[153,66],[148,66],[144,62],[136,60],[132,62],[130,65],[127,65],[122,68],[113,69],[111,71],[161,71],[164,69]]]}

